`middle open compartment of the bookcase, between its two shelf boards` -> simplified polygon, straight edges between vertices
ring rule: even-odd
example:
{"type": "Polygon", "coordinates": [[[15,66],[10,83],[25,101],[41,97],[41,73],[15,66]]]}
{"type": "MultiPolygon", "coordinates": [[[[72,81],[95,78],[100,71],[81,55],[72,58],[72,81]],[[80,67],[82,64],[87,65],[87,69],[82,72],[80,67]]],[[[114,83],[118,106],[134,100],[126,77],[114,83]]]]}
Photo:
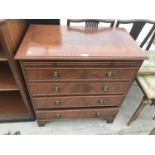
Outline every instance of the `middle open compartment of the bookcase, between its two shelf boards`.
{"type": "Polygon", "coordinates": [[[0,63],[0,92],[18,90],[8,63],[0,63]]]}

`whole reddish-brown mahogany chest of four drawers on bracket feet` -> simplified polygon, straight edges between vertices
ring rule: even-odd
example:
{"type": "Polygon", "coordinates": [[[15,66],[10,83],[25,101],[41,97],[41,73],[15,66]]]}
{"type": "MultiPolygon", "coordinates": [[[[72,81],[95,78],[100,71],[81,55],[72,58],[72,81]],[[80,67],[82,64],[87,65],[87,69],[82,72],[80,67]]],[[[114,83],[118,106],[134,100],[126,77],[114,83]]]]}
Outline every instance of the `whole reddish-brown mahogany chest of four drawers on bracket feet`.
{"type": "Polygon", "coordinates": [[[17,52],[39,126],[55,119],[112,122],[143,51],[123,29],[30,26],[17,52]]]}

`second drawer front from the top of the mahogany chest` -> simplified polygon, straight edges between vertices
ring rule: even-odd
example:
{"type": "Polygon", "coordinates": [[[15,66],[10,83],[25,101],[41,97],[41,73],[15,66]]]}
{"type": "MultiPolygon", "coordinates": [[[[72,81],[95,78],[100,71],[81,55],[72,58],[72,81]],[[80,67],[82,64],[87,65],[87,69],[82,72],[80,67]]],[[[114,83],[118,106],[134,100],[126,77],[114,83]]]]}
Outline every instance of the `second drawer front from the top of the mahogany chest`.
{"type": "Polygon", "coordinates": [[[126,94],[131,82],[104,83],[30,83],[33,96],[126,94]]]}

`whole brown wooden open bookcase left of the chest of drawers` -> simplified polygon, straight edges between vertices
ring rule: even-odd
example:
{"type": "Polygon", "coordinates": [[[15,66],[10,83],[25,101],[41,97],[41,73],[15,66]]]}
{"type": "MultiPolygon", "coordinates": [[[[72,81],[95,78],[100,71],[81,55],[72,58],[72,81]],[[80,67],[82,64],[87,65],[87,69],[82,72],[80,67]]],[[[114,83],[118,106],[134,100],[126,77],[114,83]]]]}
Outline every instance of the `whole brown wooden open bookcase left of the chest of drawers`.
{"type": "Polygon", "coordinates": [[[31,100],[14,60],[25,29],[24,20],[0,23],[0,122],[34,120],[31,100]]]}

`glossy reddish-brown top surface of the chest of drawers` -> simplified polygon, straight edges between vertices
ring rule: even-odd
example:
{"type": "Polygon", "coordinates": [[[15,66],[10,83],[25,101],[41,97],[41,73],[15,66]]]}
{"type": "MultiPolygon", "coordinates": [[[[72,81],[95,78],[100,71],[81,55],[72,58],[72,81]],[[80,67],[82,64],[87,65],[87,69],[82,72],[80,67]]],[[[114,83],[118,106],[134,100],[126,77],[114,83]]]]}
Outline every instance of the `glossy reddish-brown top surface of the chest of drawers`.
{"type": "Polygon", "coordinates": [[[16,54],[21,60],[143,60],[124,29],[31,25],[16,54]]]}

